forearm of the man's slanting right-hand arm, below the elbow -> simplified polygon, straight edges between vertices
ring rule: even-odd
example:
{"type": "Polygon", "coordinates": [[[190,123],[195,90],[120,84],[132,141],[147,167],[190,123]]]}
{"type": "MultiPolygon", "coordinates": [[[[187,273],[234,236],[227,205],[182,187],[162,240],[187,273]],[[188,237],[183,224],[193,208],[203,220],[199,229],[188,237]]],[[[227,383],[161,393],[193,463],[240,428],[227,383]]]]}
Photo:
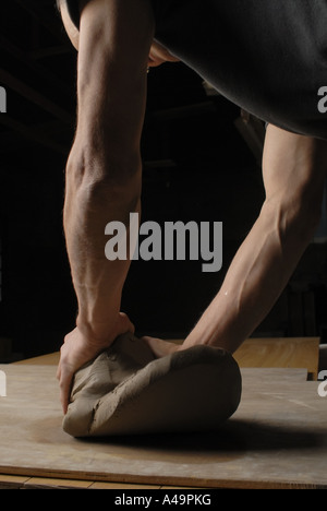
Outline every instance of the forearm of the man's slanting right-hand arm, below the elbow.
{"type": "MultiPolygon", "coordinates": [[[[306,221],[306,218],[305,218],[306,221]]],[[[294,227],[281,239],[269,206],[238,251],[218,295],[185,341],[208,344],[233,353],[267,316],[304,249],[310,236],[294,227]]]]}

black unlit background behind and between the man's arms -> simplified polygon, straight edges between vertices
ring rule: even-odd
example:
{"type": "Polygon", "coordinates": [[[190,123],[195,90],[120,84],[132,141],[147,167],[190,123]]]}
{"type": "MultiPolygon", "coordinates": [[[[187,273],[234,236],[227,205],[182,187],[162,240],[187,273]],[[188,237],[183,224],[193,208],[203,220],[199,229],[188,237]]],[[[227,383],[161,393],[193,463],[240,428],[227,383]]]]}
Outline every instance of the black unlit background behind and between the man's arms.
{"type": "MultiPolygon", "coordinates": [[[[64,166],[75,129],[76,52],[55,0],[11,0],[0,20],[0,361],[59,349],[75,296],[62,229],[64,166]]],[[[133,262],[122,310],[137,334],[184,337],[219,289],[264,200],[264,126],[185,66],[148,75],[143,218],[223,222],[223,268],[133,262]]],[[[326,243],[312,243],[256,336],[326,342],[326,243]]]]}

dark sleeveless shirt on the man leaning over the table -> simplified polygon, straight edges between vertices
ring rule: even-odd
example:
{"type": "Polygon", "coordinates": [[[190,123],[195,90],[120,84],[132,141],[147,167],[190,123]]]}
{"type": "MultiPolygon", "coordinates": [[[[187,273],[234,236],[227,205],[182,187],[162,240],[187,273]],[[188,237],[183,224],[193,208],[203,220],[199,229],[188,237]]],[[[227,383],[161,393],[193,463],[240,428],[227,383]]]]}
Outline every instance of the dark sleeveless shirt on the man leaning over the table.
{"type": "MultiPolygon", "coordinates": [[[[150,1],[156,39],[220,94],[266,122],[327,139],[327,112],[318,108],[327,0],[150,1]]],[[[78,25],[77,2],[68,3],[78,25]]]]}

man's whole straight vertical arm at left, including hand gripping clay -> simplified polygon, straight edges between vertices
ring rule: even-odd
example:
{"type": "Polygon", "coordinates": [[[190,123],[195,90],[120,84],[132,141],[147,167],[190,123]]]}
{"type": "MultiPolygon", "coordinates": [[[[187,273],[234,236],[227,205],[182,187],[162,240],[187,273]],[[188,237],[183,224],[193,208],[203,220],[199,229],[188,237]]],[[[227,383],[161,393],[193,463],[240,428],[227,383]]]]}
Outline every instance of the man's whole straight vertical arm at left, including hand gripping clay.
{"type": "MultiPolygon", "coordinates": [[[[83,2],[82,2],[83,3],[83,2]]],[[[120,313],[130,261],[105,255],[105,227],[141,210],[140,140],[154,36],[149,2],[90,0],[81,17],[77,129],[66,165],[64,230],[78,301],[61,348],[66,411],[74,372],[133,325],[120,313]]]]}

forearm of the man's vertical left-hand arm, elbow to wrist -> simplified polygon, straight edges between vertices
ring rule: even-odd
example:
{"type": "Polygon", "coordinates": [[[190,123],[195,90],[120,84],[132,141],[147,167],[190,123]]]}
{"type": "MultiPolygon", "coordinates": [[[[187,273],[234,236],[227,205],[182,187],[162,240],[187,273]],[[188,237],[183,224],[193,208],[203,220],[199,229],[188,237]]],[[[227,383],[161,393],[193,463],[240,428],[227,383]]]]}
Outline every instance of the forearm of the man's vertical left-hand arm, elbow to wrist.
{"type": "Polygon", "coordinates": [[[78,182],[78,170],[68,165],[64,229],[78,302],[76,323],[95,342],[110,340],[120,312],[130,251],[126,260],[108,261],[105,228],[109,222],[118,221],[128,230],[130,213],[140,212],[141,164],[135,165],[138,168],[120,186],[78,182]]]}

